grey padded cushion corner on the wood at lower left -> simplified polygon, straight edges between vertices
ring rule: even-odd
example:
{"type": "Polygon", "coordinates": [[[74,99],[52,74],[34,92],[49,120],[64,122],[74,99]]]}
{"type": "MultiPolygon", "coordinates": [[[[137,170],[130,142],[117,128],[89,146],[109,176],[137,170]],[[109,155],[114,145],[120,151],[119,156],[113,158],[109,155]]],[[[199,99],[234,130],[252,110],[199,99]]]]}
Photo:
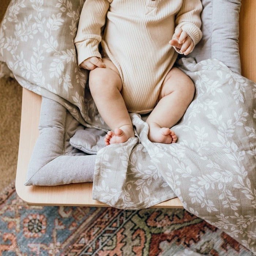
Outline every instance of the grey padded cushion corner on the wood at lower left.
{"type": "Polygon", "coordinates": [[[71,138],[84,131],[84,127],[64,106],[42,97],[39,130],[26,186],[93,181],[96,155],[87,155],[70,144],[71,138]]]}

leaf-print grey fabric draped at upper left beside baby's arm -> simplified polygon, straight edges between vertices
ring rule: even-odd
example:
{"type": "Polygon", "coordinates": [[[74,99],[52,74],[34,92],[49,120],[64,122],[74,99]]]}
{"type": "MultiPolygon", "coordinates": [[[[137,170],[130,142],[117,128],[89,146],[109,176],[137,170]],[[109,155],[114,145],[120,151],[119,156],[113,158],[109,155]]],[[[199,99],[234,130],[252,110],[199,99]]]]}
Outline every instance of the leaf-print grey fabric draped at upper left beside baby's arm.
{"type": "Polygon", "coordinates": [[[83,3],[12,0],[1,23],[0,54],[23,87],[66,106],[81,124],[107,130],[89,91],[84,98],[88,71],[77,64],[74,37],[83,3]]]}

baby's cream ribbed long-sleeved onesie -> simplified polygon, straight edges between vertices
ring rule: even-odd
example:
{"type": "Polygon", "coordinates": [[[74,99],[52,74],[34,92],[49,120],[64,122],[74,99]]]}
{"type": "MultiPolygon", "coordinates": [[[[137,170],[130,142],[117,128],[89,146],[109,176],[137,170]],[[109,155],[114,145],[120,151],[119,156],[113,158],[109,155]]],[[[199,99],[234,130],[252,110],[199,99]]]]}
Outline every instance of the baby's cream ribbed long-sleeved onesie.
{"type": "Polygon", "coordinates": [[[75,45],[80,65],[89,57],[108,56],[120,73],[121,94],[129,112],[150,112],[177,52],[169,45],[181,27],[196,45],[200,0],[86,0],[75,45]],[[104,31],[102,27],[105,25],[104,31]]]}

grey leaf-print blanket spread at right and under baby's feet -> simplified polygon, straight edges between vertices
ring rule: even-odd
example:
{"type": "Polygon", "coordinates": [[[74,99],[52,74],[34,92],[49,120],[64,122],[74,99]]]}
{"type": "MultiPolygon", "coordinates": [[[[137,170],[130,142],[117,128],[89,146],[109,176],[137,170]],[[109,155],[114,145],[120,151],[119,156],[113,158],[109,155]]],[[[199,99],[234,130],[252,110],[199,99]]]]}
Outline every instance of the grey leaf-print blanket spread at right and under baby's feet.
{"type": "Polygon", "coordinates": [[[136,209],[176,195],[186,210],[255,251],[256,84],[216,59],[180,65],[196,94],[172,128],[177,143],[150,142],[147,123],[131,114],[138,137],[98,152],[93,198],[136,209]]]}

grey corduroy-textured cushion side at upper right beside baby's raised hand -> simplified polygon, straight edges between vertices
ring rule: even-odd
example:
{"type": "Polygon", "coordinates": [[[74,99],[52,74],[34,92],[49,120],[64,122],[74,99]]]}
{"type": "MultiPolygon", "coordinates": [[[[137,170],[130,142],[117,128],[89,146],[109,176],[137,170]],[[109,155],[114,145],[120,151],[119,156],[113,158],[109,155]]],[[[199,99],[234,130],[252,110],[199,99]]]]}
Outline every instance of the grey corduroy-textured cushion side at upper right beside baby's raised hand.
{"type": "Polygon", "coordinates": [[[202,0],[202,4],[203,37],[188,57],[196,62],[215,58],[241,74],[238,46],[241,0],[202,0]]]}

